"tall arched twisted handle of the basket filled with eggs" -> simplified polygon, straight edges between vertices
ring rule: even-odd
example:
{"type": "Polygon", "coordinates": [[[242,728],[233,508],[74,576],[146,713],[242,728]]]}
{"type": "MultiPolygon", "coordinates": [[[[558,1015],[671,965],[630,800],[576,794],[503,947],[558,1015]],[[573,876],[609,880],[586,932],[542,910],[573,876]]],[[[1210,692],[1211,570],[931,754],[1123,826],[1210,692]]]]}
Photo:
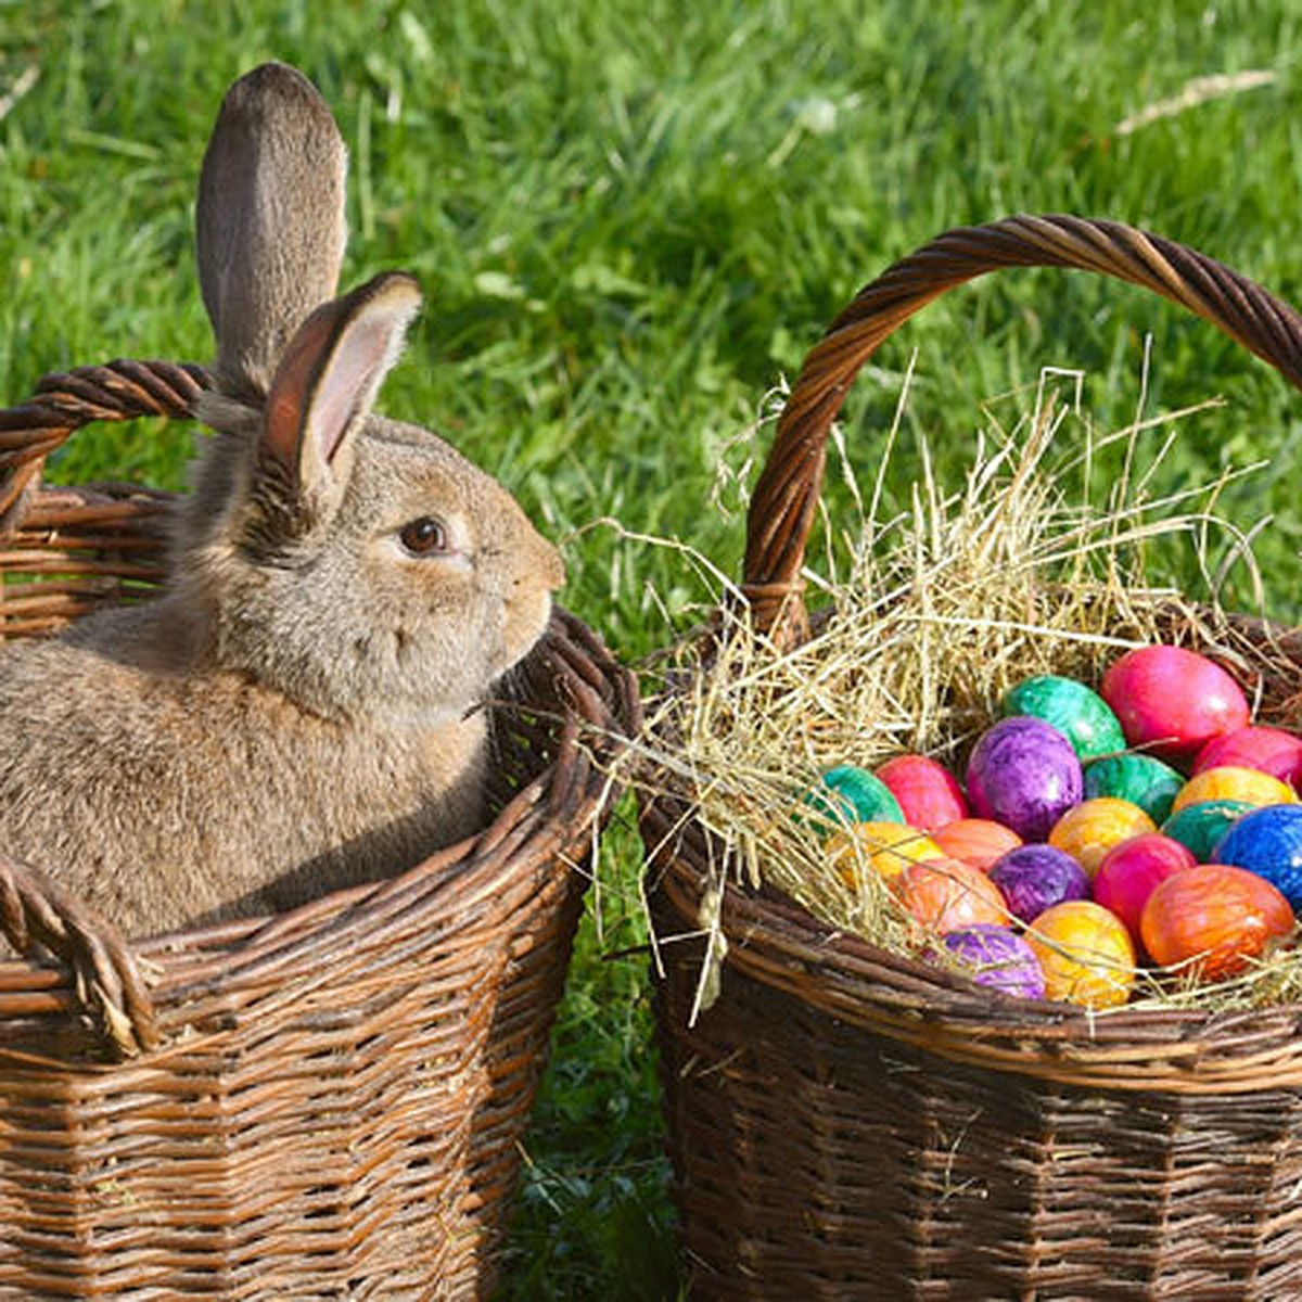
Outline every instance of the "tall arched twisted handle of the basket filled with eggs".
{"type": "Polygon", "coordinates": [[[746,517],[742,596],[756,629],[802,641],[801,568],[850,383],[878,346],[947,289],[1000,267],[1069,267],[1143,285],[1206,318],[1302,388],[1302,316],[1211,258],[1118,221],[1014,216],[947,230],[865,285],[801,366],[746,517]]]}

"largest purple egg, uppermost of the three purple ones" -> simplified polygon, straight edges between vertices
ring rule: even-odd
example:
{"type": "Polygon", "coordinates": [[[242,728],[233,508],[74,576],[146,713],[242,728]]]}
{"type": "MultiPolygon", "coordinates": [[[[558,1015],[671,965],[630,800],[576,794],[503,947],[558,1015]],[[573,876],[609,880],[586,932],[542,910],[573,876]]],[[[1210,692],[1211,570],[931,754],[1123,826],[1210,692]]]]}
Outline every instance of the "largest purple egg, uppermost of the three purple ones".
{"type": "Polygon", "coordinates": [[[1072,743],[1043,719],[1003,719],[976,740],[967,759],[967,802],[978,818],[1043,841],[1083,793],[1072,743]]]}

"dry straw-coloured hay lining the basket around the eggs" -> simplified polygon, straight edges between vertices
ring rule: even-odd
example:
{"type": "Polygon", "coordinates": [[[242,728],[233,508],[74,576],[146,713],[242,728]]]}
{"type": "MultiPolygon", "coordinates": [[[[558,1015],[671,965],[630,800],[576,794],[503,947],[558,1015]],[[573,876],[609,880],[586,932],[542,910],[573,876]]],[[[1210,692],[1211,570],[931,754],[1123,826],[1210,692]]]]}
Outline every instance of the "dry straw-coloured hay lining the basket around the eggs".
{"type": "MultiPolygon", "coordinates": [[[[1230,562],[1241,562],[1253,591],[1260,591],[1250,540],[1215,514],[1230,477],[1150,497],[1178,422],[1212,405],[1137,419],[1095,439],[1078,401],[1061,401],[1042,376],[1032,410],[1013,431],[996,426],[978,440],[958,491],[941,490],[923,448],[909,508],[879,525],[889,461],[883,457],[868,503],[859,500],[849,573],[807,575],[824,602],[809,642],[779,650],[749,626],[743,607],[717,594],[721,613],[712,634],[681,638],[659,667],[672,690],[652,698],[637,750],[637,781],[663,785],[671,775],[721,848],[700,918],[715,936],[716,960],[725,950],[720,892],[763,881],[832,927],[900,953],[939,950],[939,961],[956,962],[934,936],[919,934],[879,874],[859,871],[857,884],[848,883],[828,865],[827,828],[809,816],[805,796],[836,764],[871,768],[906,750],[961,775],[971,743],[997,717],[1000,698],[1022,678],[1059,673],[1096,685],[1124,650],[1181,641],[1236,668],[1260,717],[1288,712],[1289,661],[1269,638],[1245,637],[1215,600],[1230,562]],[[1108,448],[1122,453],[1122,471],[1099,506],[1069,501],[1059,488],[1064,464],[1051,464],[1048,452],[1062,441],[1066,423],[1073,434],[1085,427],[1077,470],[1108,448]],[[1144,456],[1154,440],[1156,450],[1144,456]],[[1213,594],[1207,602],[1148,581],[1151,544],[1170,535],[1185,535],[1198,556],[1213,594]],[[1228,539],[1230,557],[1217,573],[1207,561],[1213,539],[1228,539]]],[[[892,448],[898,426],[897,414],[892,448]]],[[[703,1006],[713,993],[710,967],[703,1006]]],[[[1176,973],[1141,974],[1128,1006],[1234,1008],[1295,997],[1302,997],[1302,961],[1284,945],[1217,986],[1176,973]]]]}

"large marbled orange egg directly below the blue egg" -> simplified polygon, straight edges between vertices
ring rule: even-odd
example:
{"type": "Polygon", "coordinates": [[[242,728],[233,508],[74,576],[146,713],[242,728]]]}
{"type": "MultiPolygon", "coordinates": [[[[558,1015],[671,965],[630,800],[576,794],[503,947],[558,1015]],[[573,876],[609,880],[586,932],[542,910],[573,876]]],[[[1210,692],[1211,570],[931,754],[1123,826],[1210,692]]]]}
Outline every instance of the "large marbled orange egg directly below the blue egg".
{"type": "Polygon", "coordinates": [[[1187,963],[1202,980],[1242,971],[1293,928],[1288,900],[1264,878],[1228,863],[1198,863],[1160,883],[1139,919],[1144,948],[1163,967],[1187,963]]]}

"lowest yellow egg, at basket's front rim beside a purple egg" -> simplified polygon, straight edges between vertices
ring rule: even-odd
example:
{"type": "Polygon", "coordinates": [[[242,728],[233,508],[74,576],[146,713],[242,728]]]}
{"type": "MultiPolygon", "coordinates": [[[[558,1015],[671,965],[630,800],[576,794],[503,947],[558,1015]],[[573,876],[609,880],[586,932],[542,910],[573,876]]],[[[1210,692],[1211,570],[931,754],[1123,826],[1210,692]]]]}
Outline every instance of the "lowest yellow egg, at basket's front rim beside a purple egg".
{"type": "Polygon", "coordinates": [[[1035,919],[1026,939],[1048,999],[1115,1008],[1130,997],[1135,950],[1125,923],[1092,900],[1068,900],[1035,919]]]}

